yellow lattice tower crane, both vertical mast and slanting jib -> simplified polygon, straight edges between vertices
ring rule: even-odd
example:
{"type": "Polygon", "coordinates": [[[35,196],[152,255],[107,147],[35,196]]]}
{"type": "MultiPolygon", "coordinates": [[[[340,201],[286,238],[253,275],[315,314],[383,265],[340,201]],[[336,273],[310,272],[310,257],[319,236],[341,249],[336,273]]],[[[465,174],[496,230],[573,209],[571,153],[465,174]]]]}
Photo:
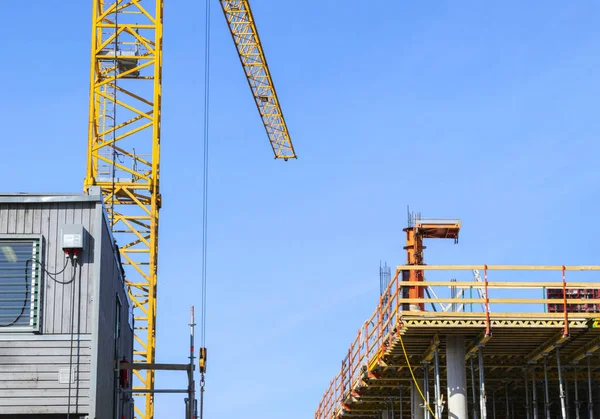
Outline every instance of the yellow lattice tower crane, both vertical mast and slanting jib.
{"type": "MultiPolygon", "coordinates": [[[[210,1],[210,0],[207,0],[210,1]]],[[[155,362],[164,0],[92,0],[87,171],[102,189],[134,307],[134,361],[155,362]]],[[[276,158],[296,154],[248,1],[220,1],[276,158]]],[[[134,371],[154,416],[154,371],[134,371]]]]}

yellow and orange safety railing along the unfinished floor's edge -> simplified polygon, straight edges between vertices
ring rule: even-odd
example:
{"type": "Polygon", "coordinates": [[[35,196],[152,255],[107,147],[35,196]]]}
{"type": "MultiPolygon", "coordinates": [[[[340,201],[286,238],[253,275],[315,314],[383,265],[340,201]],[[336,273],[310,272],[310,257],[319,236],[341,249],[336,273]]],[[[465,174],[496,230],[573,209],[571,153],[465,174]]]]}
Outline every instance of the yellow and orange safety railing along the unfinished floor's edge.
{"type": "MultiPolygon", "coordinates": [[[[394,278],[390,281],[385,291],[379,298],[377,309],[373,315],[364,322],[358,330],[357,336],[350,345],[346,357],[342,360],[340,372],[330,382],[327,391],[315,412],[315,419],[337,418],[344,408],[344,402],[351,396],[356,384],[363,374],[370,374],[378,365],[387,347],[392,343],[396,333],[402,327],[402,317],[427,316],[428,318],[464,318],[475,317],[485,319],[486,333],[490,333],[491,321],[496,318],[510,318],[535,316],[536,319],[564,319],[564,333],[568,334],[569,316],[581,313],[574,312],[574,308],[582,304],[595,305],[600,308],[600,281],[567,282],[567,273],[570,271],[600,271],[600,266],[519,266],[519,265],[443,265],[443,266],[398,266],[394,278]],[[481,281],[429,281],[408,282],[402,281],[401,272],[410,270],[422,271],[470,271],[479,270],[483,273],[481,281]],[[489,281],[490,271],[558,271],[553,281],[489,281]],[[424,287],[429,290],[477,290],[479,298],[461,296],[404,298],[403,289],[406,287],[424,287]],[[546,290],[559,290],[559,299],[547,298],[546,290]],[[582,300],[572,298],[577,290],[598,290],[594,298],[582,300]],[[530,290],[530,298],[512,295],[506,296],[507,290],[511,294],[526,294],[530,290]],[[540,294],[541,291],[541,294],[540,294]],[[537,292],[538,297],[535,296],[537,292]],[[561,295],[562,294],[562,295],[561,295]],[[542,295],[542,298],[539,297],[542,295]],[[443,307],[443,304],[452,304],[466,309],[466,305],[477,304],[481,311],[403,311],[408,304],[428,304],[443,307]],[[552,304],[555,310],[549,312],[547,307],[552,304]],[[523,309],[523,307],[531,309],[523,309]],[[559,308],[556,309],[556,307],[559,308]],[[513,311],[509,309],[513,308],[513,311]]],[[[496,277],[497,275],[492,275],[496,277]]],[[[598,275],[600,277],[600,274],[598,275]]],[[[406,293],[408,295],[408,293],[406,293]]],[[[597,314],[600,316],[600,314],[597,314]]],[[[589,317],[594,317],[590,313],[589,317]]]]}

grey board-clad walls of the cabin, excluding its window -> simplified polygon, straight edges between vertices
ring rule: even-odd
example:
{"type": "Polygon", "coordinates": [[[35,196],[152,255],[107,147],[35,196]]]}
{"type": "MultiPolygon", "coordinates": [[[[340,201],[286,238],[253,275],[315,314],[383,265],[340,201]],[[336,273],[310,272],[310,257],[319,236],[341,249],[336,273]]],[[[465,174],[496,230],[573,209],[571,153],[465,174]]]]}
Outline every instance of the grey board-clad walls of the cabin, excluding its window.
{"type": "MultiPolygon", "coordinates": [[[[82,224],[87,231],[75,281],[61,285],[42,275],[40,333],[0,331],[0,418],[9,414],[66,413],[69,386],[59,383],[58,377],[61,369],[68,371],[70,360],[76,371],[75,383],[71,384],[71,412],[90,414],[91,419],[112,418],[112,409],[108,415],[94,412],[96,404],[106,406],[113,400],[114,332],[110,330],[114,329],[115,303],[110,301],[111,294],[115,301],[117,294],[121,297],[125,323],[121,328],[125,342],[122,351],[131,359],[132,348],[127,348],[133,340],[127,326],[129,306],[102,205],[89,198],[66,201],[76,200],[12,203],[0,197],[0,235],[42,235],[43,262],[50,272],[58,272],[65,265],[61,226],[82,224]],[[106,399],[108,387],[111,393],[106,399]],[[102,392],[101,397],[93,394],[96,389],[102,392]]],[[[56,279],[65,282],[72,275],[69,265],[56,279]]]]}

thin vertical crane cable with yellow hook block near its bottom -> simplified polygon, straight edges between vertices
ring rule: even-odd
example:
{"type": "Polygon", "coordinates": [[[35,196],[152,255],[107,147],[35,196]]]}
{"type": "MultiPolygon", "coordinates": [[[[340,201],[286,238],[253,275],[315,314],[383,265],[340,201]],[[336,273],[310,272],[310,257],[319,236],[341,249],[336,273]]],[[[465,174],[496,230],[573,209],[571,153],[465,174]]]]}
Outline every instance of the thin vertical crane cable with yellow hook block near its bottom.
{"type": "Polygon", "coordinates": [[[206,373],[206,268],[208,250],[208,145],[210,108],[210,2],[206,0],[204,43],[204,171],[202,183],[202,319],[200,322],[200,419],[204,417],[206,373]]]}

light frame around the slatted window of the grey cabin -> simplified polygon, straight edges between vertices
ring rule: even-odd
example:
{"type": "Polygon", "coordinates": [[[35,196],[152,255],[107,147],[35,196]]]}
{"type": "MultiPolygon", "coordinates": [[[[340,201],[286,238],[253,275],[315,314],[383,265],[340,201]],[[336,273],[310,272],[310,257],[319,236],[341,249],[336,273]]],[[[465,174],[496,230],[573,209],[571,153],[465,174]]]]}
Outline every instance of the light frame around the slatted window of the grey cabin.
{"type": "MultiPolygon", "coordinates": [[[[32,244],[32,255],[34,246],[37,245],[39,262],[44,264],[44,237],[41,234],[0,234],[0,245],[8,241],[29,241],[32,244]]],[[[40,333],[42,324],[42,302],[43,302],[43,269],[37,263],[29,264],[29,325],[0,327],[0,336],[7,333],[40,333]],[[35,290],[35,292],[33,291],[35,290]],[[37,305],[36,305],[37,300],[37,305]]]]}

